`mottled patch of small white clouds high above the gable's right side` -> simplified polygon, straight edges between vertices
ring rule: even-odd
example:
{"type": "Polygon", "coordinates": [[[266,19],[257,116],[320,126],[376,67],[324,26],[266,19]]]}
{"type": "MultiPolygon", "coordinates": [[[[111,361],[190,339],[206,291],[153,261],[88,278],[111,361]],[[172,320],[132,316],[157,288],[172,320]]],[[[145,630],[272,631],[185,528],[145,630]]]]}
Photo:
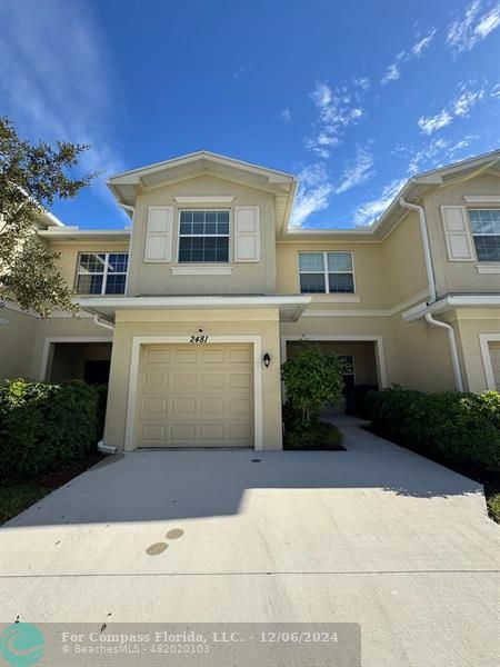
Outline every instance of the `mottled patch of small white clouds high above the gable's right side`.
{"type": "Polygon", "coordinates": [[[331,88],[324,81],[317,81],[310,98],[319,111],[319,118],[316,133],[306,140],[306,147],[320,158],[328,159],[347,128],[356,125],[364,111],[358,106],[359,94],[354,103],[354,96],[346,87],[331,88]]]}

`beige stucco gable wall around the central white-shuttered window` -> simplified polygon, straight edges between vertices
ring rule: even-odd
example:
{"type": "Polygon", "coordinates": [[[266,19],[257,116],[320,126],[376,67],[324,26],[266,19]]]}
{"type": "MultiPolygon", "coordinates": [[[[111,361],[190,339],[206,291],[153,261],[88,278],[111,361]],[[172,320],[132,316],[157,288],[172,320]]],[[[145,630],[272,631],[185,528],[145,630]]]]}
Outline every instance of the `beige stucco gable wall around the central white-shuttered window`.
{"type": "MultiPolygon", "coordinates": [[[[139,196],[136,205],[131,240],[131,258],[128,295],[221,295],[276,292],[273,196],[246,186],[224,181],[211,176],[200,176],[170,186],[159,187],[139,196]],[[231,196],[229,205],[178,205],[174,197],[231,196]],[[144,262],[147,217],[149,206],[173,207],[172,261],[144,262]],[[260,207],[260,261],[236,262],[234,207],[260,207]],[[171,266],[177,266],[178,228],[180,209],[230,209],[229,265],[231,276],[172,276],[171,266]]],[[[183,263],[182,266],[187,266],[183,263]]],[[[204,267],[212,266],[204,263],[204,267]]],[[[220,266],[220,265],[213,265],[220,266]]]]}

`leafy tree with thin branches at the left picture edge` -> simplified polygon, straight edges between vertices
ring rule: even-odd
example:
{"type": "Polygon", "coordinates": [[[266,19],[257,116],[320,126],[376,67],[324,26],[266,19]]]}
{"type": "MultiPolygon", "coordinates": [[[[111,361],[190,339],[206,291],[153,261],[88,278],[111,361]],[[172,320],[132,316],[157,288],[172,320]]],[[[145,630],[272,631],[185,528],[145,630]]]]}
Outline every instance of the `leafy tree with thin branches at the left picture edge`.
{"type": "Polygon", "coordinates": [[[36,226],[56,199],[76,197],[96,176],[71,176],[88,148],[66,141],[56,148],[30,143],[0,117],[0,301],[14,301],[42,318],[53,308],[77,312],[57,267],[59,252],[41,241],[36,226]]]}

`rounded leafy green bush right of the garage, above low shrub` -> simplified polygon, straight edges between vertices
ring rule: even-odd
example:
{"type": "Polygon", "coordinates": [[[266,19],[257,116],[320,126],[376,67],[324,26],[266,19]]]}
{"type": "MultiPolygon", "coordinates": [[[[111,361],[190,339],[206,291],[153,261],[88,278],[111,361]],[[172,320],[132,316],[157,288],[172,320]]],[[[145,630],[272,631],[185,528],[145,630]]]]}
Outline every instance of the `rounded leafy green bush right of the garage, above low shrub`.
{"type": "Polygon", "coordinates": [[[342,398],[346,362],[337,355],[324,355],[318,345],[302,349],[281,367],[287,401],[308,424],[328,405],[342,398]]]}

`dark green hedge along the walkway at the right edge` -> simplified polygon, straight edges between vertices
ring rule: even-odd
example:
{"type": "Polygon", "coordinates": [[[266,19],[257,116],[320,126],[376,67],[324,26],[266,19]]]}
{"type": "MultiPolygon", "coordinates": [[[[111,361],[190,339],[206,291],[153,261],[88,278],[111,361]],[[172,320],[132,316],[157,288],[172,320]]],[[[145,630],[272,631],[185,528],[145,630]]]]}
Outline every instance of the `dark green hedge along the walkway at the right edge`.
{"type": "Polygon", "coordinates": [[[500,394],[372,391],[373,429],[388,439],[471,474],[500,472],[500,394]]]}

